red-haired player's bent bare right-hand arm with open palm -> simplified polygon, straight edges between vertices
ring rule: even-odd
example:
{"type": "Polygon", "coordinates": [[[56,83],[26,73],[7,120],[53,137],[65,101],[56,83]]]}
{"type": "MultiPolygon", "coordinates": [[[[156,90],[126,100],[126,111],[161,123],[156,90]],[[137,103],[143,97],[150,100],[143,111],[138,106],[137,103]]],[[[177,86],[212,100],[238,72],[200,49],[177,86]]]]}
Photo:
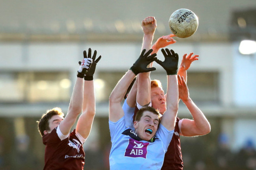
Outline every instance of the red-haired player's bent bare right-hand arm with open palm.
{"type": "Polygon", "coordinates": [[[179,85],[179,97],[183,103],[189,109],[193,120],[184,119],[181,125],[181,133],[183,136],[198,136],[206,135],[210,133],[211,126],[202,111],[195,105],[192,99],[189,97],[189,90],[187,88],[185,79],[182,77],[178,82],[179,85]]]}

